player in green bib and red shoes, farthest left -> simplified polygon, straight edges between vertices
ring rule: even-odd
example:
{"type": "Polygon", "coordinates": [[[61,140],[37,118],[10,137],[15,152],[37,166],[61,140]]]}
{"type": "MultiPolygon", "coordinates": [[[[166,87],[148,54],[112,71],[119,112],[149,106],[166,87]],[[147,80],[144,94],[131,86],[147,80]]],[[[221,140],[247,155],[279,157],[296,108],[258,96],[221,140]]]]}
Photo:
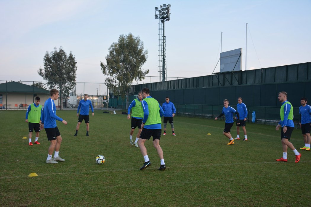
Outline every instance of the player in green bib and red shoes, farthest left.
{"type": "Polygon", "coordinates": [[[32,132],[34,131],[34,129],[36,133],[35,144],[38,144],[38,145],[40,144],[40,142],[38,142],[38,139],[39,139],[39,133],[40,133],[41,113],[42,113],[42,106],[40,105],[40,97],[37,96],[35,98],[35,103],[30,104],[26,111],[26,122],[28,123],[28,128],[29,128],[28,138],[29,138],[30,146],[32,145],[31,137],[32,137],[32,132]]]}

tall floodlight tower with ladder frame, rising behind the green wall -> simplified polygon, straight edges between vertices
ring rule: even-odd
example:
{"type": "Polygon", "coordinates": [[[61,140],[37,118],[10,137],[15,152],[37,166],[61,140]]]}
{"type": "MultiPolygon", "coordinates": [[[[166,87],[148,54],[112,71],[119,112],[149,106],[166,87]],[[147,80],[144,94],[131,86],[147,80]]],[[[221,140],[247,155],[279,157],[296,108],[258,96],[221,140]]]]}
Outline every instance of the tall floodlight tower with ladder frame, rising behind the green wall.
{"type": "Polygon", "coordinates": [[[164,22],[170,20],[170,4],[163,4],[160,5],[160,9],[158,7],[155,7],[156,14],[155,18],[159,19],[159,68],[160,68],[160,76],[162,77],[162,81],[164,82],[166,79],[166,41],[165,41],[165,33],[164,33],[164,22]],[[157,14],[158,11],[158,14],[157,14]],[[163,27],[162,27],[163,25],[163,27]],[[163,29],[162,29],[163,28],[163,29]],[[163,34],[162,34],[163,31],[163,34]],[[161,47],[161,48],[160,48],[161,47]]]}

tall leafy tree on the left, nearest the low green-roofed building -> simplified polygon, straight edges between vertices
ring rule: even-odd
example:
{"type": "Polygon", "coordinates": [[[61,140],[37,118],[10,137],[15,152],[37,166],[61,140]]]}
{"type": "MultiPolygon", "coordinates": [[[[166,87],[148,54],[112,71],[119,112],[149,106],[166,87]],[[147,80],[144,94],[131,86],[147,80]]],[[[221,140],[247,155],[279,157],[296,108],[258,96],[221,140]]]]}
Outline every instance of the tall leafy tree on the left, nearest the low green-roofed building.
{"type": "Polygon", "coordinates": [[[38,70],[40,76],[47,81],[49,89],[55,86],[59,89],[61,107],[62,99],[67,99],[69,92],[75,84],[77,62],[74,55],[70,51],[67,56],[63,47],[59,47],[59,51],[54,47],[54,51],[46,51],[44,55],[44,69],[41,67],[38,70]]]}

